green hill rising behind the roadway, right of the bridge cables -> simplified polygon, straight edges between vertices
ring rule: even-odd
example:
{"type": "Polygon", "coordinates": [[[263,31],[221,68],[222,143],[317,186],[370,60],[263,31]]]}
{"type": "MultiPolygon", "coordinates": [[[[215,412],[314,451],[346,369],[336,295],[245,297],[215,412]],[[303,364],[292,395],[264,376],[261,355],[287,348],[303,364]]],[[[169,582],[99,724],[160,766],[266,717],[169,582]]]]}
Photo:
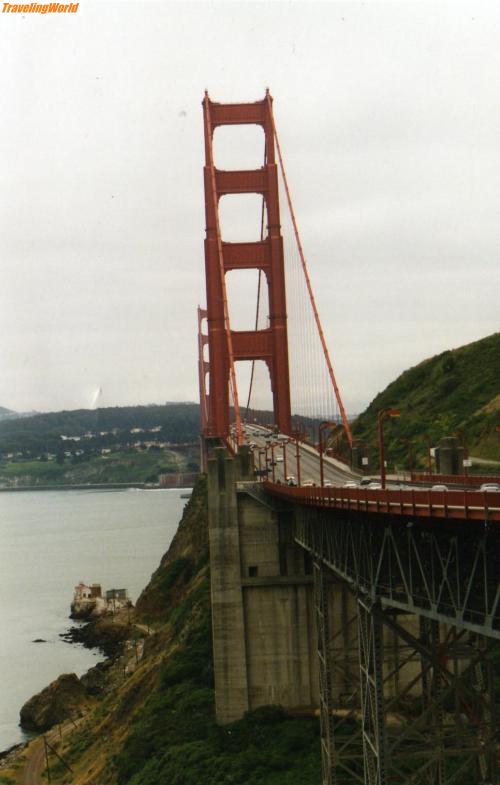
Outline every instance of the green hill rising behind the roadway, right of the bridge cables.
{"type": "Polygon", "coordinates": [[[423,467],[426,437],[434,445],[454,433],[471,456],[500,462],[500,333],[424,360],[379,393],[352,425],[354,438],[366,440],[373,457],[377,414],[386,406],[401,410],[384,428],[389,465],[408,465],[402,439],[411,441],[423,467]]]}

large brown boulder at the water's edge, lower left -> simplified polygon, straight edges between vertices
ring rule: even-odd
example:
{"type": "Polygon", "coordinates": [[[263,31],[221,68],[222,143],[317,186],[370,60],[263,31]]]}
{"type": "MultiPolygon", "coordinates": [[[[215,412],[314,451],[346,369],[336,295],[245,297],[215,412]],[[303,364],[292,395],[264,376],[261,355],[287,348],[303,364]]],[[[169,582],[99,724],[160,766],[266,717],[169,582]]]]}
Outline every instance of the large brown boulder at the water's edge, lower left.
{"type": "Polygon", "coordinates": [[[87,691],[75,673],[65,673],[33,695],[21,709],[21,726],[45,731],[72,717],[87,698],[87,691]]]}

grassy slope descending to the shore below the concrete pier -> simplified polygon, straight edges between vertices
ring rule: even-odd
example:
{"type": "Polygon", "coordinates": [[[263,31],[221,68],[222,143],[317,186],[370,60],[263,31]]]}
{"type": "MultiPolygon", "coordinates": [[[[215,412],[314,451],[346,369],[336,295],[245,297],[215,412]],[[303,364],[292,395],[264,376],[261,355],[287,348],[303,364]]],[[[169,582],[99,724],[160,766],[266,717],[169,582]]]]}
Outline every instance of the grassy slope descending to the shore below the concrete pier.
{"type": "Polygon", "coordinates": [[[317,785],[318,724],[265,707],[219,728],[214,718],[206,488],[137,604],[155,630],[127,679],[115,685],[54,763],[57,785],[317,785]]]}

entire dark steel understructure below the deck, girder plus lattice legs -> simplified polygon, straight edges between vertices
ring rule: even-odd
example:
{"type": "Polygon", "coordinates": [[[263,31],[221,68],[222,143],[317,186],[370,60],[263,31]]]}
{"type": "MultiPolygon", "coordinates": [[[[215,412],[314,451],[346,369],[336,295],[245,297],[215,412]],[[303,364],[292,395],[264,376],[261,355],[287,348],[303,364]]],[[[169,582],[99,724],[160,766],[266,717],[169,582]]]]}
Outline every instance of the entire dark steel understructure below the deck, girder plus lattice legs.
{"type": "Polygon", "coordinates": [[[296,514],[295,540],[313,556],[318,587],[323,783],[495,785],[495,537],[481,526],[464,543],[456,526],[398,523],[296,514]],[[353,623],[326,607],[325,585],[338,578],[357,597],[359,676],[350,670],[348,710],[332,700],[345,677],[342,627],[353,623]],[[420,619],[416,635],[409,614],[420,619]]]}

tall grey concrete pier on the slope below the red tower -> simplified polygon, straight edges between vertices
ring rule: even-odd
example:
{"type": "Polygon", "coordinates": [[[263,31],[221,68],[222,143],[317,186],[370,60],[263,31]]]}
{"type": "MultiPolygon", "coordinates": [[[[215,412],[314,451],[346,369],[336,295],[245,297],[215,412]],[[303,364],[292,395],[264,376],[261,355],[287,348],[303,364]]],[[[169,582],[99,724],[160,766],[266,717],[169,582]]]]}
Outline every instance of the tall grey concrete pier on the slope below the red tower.
{"type": "Polygon", "coordinates": [[[217,448],[208,460],[216,716],[267,704],[319,703],[310,559],[288,515],[253,480],[251,454],[217,448]]]}

